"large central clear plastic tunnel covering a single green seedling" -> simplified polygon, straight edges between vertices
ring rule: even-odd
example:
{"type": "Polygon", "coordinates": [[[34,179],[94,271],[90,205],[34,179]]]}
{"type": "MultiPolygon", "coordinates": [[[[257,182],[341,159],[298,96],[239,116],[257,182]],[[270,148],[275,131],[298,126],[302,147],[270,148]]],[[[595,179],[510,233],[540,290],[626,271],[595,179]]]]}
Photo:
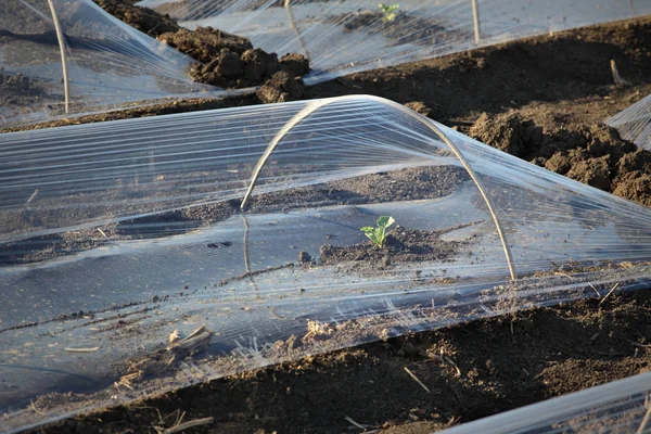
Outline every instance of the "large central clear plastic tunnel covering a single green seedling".
{"type": "Polygon", "coordinates": [[[647,208],[373,97],[1,135],[0,192],[4,431],[651,277],[647,208]]]}

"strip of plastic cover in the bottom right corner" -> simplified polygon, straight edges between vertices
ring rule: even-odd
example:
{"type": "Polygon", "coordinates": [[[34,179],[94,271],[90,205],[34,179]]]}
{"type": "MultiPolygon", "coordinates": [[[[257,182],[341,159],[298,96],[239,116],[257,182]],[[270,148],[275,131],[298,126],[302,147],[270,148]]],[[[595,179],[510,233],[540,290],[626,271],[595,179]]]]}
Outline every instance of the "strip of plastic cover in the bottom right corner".
{"type": "Polygon", "coordinates": [[[480,419],[442,434],[651,433],[651,373],[480,419]]]}

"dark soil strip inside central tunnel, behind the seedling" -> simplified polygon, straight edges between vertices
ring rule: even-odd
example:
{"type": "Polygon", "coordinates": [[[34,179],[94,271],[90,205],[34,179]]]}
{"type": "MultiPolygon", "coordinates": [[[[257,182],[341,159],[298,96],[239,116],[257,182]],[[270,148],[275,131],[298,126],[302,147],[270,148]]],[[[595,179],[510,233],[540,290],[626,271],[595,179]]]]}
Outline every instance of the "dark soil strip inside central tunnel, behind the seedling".
{"type": "MultiPolygon", "coordinates": [[[[457,186],[469,179],[465,170],[457,166],[406,168],[255,195],[247,206],[247,213],[435,199],[451,194],[457,186]]],[[[206,204],[99,228],[0,243],[0,265],[38,263],[101,247],[110,241],[152,239],[188,232],[229,218],[240,212],[240,201],[206,204]]],[[[7,228],[11,225],[9,218],[15,217],[0,213],[0,222],[7,228]]],[[[22,218],[24,221],[20,227],[28,228],[36,225],[38,216],[27,209],[22,213],[22,218]]]]}

